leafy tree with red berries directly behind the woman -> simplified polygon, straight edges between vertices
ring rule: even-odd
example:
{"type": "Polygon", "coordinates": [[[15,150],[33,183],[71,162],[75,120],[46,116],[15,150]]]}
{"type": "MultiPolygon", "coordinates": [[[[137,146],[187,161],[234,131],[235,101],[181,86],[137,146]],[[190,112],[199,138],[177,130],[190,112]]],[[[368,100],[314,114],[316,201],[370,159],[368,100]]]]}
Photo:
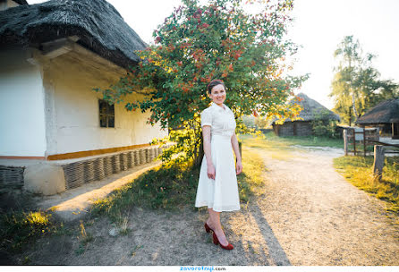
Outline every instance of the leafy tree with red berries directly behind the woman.
{"type": "Polygon", "coordinates": [[[178,144],[164,152],[164,158],[182,151],[183,159],[200,158],[200,112],[208,107],[206,86],[212,79],[225,81],[225,103],[242,130],[242,115],[297,114],[297,109],[283,106],[305,79],[284,76],[284,57],[296,51],[284,38],[293,1],[247,4],[256,2],[266,3],[261,12],[250,14],[242,0],[205,5],[183,0],[154,31],[155,45],[137,52],[140,64],[110,89],[97,90],[110,103],[132,93],[145,96],[125,108],[149,110],[149,123],[169,128],[164,140],[178,144]]]}

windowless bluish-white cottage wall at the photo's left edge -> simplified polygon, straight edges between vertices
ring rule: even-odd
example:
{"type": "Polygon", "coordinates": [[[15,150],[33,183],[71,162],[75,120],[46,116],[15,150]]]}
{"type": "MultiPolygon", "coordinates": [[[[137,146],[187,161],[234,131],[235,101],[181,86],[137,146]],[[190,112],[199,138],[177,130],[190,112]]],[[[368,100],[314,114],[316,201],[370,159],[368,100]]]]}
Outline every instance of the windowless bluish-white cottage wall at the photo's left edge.
{"type": "Polygon", "coordinates": [[[45,156],[42,77],[27,56],[23,50],[0,52],[0,156],[45,156]]]}

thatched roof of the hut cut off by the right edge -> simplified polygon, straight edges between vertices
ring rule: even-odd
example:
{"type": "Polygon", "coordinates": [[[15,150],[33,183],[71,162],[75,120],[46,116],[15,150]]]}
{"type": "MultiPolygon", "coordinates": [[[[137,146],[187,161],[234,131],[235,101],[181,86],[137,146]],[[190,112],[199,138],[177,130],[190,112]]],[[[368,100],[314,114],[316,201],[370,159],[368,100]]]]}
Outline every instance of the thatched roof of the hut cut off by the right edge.
{"type": "Polygon", "coordinates": [[[399,98],[390,99],[379,103],[369,109],[367,113],[361,115],[356,123],[391,123],[392,120],[399,118],[399,98]]]}

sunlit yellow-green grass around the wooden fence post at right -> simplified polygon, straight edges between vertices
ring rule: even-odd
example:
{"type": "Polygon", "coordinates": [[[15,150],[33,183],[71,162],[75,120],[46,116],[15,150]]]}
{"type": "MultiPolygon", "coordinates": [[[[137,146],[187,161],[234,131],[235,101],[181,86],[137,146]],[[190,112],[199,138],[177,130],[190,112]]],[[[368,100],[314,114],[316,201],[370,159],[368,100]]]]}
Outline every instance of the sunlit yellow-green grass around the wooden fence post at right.
{"type": "Polygon", "coordinates": [[[373,161],[371,156],[336,157],[334,166],[354,186],[386,201],[386,209],[399,214],[399,157],[385,158],[380,182],[373,176],[373,161]]]}

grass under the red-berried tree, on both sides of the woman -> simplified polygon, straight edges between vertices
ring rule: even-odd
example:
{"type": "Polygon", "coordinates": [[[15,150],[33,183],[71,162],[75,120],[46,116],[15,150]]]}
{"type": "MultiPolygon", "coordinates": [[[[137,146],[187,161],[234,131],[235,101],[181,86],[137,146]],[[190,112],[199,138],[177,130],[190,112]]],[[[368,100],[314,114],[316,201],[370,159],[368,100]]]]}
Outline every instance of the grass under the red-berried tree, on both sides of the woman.
{"type": "MultiPolygon", "coordinates": [[[[248,202],[250,195],[262,185],[264,165],[261,158],[244,149],[244,173],[238,176],[240,199],[248,202]]],[[[125,211],[132,206],[177,210],[186,205],[194,207],[200,167],[191,163],[170,163],[141,174],[131,183],[113,191],[108,197],[95,201],[92,215],[107,215],[112,222],[121,225],[125,211]]]]}

